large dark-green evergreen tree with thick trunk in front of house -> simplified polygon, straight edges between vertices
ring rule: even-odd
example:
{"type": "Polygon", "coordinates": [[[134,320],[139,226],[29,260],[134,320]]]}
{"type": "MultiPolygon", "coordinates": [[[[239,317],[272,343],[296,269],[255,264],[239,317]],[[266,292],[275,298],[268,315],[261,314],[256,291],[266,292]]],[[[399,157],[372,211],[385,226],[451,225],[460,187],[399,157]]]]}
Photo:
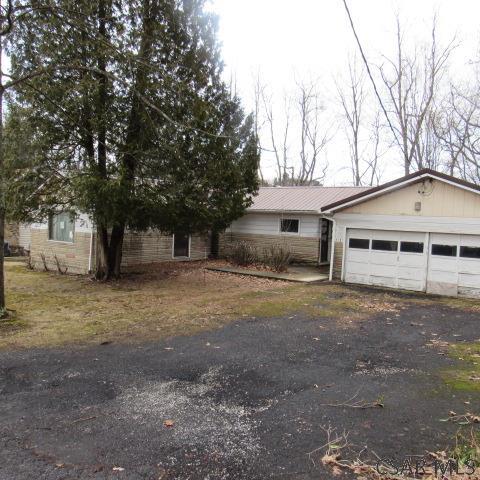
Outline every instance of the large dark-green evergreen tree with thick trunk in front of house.
{"type": "Polygon", "coordinates": [[[97,277],[120,273],[126,229],[204,232],[257,188],[250,117],[221,79],[204,0],[37,0],[15,5],[12,107],[35,155],[11,182],[18,218],[88,213],[97,277]]]}

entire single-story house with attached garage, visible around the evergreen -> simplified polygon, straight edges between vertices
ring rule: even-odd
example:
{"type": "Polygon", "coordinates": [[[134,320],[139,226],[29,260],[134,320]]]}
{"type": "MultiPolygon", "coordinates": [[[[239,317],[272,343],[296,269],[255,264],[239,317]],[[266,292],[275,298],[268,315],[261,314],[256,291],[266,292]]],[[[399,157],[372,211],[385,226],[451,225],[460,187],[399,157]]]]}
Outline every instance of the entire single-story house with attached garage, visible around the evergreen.
{"type": "MultiPolygon", "coordinates": [[[[95,228],[67,214],[30,229],[31,256],[89,273],[95,228]]],[[[209,256],[209,236],[129,232],[123,265],[209,256]]],[[[330,279],[480,298],[480,186],[425,169],[378,187],[265,187],[220,236],[219,254],[246,241],[281,244],[330,279]]],[[[217,247],[215,247],[217,248],[217,247]]]]}

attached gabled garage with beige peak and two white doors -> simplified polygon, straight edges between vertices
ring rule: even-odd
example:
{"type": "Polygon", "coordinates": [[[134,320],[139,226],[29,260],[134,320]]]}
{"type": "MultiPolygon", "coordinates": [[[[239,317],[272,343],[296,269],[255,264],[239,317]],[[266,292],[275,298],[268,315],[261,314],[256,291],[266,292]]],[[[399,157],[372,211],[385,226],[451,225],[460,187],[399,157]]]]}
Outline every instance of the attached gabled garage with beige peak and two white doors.
{"type": "Polygon", "coordinates": [[[422,170],[322,209],[331,277],[480,298],[480,187],[422,170]]]}

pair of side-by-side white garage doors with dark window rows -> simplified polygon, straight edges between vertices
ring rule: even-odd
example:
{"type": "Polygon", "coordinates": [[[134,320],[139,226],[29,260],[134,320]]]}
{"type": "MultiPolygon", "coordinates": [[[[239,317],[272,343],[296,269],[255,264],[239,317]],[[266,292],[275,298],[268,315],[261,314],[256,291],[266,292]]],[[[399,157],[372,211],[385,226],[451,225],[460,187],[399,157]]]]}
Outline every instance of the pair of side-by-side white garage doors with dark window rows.
{"type": "Polygon", "coordinates": [[[480,298],[480,236],[349,229],[345,281],[480,298]]]}

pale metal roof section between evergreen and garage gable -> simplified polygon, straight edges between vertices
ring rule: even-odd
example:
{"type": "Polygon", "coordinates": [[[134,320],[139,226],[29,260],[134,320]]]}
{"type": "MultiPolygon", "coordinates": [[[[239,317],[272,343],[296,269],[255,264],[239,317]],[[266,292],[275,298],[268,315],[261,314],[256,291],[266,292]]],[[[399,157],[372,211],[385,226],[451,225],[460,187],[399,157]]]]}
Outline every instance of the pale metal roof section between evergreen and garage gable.
{"type": "Polygon", "coordinates": [[[260,187],[249,212],[310,212],[371,187],[260,187]]]}

